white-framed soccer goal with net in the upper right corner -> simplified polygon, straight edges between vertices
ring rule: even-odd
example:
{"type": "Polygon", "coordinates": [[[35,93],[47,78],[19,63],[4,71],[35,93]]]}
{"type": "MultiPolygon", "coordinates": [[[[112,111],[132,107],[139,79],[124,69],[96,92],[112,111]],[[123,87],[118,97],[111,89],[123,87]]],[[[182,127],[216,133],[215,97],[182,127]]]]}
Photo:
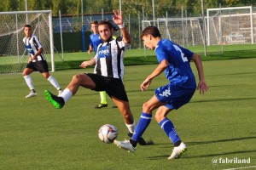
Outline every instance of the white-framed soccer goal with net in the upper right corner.
{"type": "Polygon", "coordinates": [[[207,44],[254,43],[253,7],[208,8],[207,44]]]}

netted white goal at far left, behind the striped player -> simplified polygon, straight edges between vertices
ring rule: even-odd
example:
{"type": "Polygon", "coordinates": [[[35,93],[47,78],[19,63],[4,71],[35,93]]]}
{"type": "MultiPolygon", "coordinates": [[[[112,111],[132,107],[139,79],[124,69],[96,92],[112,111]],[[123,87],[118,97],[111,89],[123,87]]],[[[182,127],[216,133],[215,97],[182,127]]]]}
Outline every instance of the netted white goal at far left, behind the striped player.
{"type": "Polygon", "coordinates": [[[28,55],[22,39],[23,27],[32,26],[44,48],[51,71],[55,71],[51,10],[0,12],[0,74],[22,71],[28,55]]]}

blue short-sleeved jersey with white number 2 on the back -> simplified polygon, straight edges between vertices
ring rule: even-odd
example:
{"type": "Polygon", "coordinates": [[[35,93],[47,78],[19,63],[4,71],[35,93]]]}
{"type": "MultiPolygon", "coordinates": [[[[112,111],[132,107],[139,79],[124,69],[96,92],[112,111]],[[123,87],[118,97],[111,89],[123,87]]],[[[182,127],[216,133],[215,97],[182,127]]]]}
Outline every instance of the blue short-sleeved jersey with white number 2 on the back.
{"type": "Polygon", "coordinates": [[[196,88],[195,76],[189,64],[193,52],[168,39],[160,40],[154,52],[159,63],[164,59],[169,62],[165,71],[169,83],[181,88],[196,88]]]}

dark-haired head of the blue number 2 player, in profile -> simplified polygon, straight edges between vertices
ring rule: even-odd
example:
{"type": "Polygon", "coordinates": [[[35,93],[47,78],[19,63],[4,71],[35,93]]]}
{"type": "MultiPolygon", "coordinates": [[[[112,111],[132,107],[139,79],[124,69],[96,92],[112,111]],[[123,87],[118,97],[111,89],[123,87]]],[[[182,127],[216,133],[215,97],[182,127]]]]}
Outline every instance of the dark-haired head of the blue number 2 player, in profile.
{"type": "Polygon", "coordinates": [[[160,31],[155,26],[148,26],[143,30],[141,38],[147,48],[154,49],[160,40],[160,31]]]}

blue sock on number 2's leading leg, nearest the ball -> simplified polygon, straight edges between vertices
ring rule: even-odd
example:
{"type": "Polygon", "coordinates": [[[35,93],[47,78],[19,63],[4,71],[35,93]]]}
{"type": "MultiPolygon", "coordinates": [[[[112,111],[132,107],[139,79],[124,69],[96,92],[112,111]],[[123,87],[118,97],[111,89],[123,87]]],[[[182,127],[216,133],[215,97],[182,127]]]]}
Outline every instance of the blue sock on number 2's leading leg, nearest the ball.
{"type": "Polygon", "coordinates": [[[138,139],[140,139],[140,137],[145,132],[145,130],[148,127],[151,120],[152,120],[152,114],[147,114],[147,113],[142,112],[140,120],[137,123],[137,127],[135,128],[135,131],[134,131],[131,139],[134,141],[138,141],[138,139]]]}

